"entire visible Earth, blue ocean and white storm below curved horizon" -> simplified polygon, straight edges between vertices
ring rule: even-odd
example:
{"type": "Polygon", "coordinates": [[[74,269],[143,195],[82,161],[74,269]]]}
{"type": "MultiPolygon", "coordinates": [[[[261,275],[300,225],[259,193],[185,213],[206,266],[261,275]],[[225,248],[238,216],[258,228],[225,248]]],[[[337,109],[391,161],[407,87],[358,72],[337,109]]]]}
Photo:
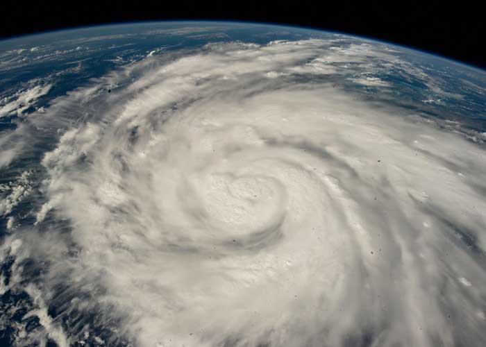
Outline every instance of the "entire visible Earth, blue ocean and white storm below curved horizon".
{"type": "Polygon", "coordinates": [[[486,73],[229,22],[0,42],[1,346],[486,345],[486,73]]]}

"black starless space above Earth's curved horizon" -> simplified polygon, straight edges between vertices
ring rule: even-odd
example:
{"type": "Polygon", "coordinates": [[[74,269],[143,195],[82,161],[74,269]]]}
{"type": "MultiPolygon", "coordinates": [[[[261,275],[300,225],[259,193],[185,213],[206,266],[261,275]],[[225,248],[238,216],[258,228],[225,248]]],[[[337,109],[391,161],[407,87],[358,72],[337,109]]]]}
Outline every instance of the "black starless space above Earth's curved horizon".
{"type": "Polygon", "coordinates": [[[0,37],[153,19],[238,19],[311,26],[387,40],[486,68],[484,11],[476,1],[3,0],[0,37]]]}

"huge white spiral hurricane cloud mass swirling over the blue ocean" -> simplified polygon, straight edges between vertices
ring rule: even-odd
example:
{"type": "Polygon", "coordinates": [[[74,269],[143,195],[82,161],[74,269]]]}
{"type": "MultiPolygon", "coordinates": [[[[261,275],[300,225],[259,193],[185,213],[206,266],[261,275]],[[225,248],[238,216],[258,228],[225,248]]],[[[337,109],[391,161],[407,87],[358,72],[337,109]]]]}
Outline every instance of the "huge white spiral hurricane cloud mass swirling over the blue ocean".
{"type": "Polygon", "coordinates": [[[322,78],[378,54],[214,44],[54,101],[46,201],[3,246],[46,264],[49,337],[483,346],[485,151],[322,78]]]}

